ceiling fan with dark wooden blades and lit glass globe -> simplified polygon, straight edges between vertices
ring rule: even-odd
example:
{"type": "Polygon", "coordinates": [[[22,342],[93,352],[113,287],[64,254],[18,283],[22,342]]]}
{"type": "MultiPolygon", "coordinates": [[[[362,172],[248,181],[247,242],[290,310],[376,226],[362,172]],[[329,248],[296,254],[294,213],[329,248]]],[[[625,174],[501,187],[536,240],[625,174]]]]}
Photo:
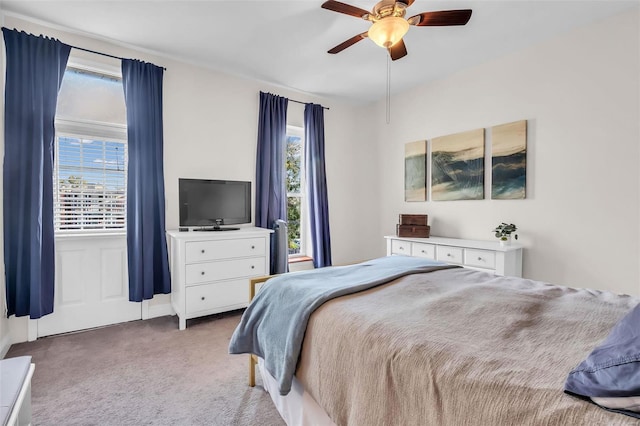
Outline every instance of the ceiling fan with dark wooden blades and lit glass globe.
{"type": "Polygon", "coordinates": [[[470,9],[441,10],[437,12],[422,12],[405,19],[407,8],[415,0],[382,0],[371,12],[359,7],[351,6],[335,0],[328,0],[322,4],[323,9],[344,13],[345,15],[362,18],[372,22],[371,27],[364,33],[355,35],[343,41],[328,53],[342,52],[360,40],[370,38],[380,47],[389,51],[392,60],[400,59],[407,54],[407,48],[402,37],[409,31],[409,26],[439,27],[448,25],[465,25],[471,18],[470,9]]]}

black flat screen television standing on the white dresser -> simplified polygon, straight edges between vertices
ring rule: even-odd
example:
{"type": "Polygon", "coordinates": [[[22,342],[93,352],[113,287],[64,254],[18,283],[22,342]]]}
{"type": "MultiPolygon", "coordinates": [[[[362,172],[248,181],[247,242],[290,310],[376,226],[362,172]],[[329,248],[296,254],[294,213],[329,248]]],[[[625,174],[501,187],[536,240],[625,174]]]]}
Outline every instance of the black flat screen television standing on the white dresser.
{"type": "Polygon", "coordinates": [[[194,231],[228,231],[222,227],[251,223],[251,182],[178,179],[180,226],[194,231]]]}

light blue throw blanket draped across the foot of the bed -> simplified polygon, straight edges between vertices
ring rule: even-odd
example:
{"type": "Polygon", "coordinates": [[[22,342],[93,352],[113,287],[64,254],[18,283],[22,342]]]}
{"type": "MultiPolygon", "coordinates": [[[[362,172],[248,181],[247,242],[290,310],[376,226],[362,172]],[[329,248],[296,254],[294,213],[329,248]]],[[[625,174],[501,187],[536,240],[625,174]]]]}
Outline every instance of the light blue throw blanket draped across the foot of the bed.
{"type": "Polygon", "coordinates": [[[350,266],[294,272],[271,278],[242,315],[229,353],[265,360],[281,395],[291,382],[309,317],[324,302],[367,290],[409,274],[452,268],[429,259],[389,256],[350,266]]]}

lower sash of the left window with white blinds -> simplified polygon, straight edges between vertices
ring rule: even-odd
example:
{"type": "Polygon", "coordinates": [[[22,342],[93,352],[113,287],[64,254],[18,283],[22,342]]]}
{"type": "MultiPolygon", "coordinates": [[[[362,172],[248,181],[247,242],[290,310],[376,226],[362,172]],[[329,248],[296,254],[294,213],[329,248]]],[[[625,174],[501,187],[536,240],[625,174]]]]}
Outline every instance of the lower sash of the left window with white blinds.
{"type": "Polygon", "coordinates": [[[55,158],[56,231],[124,230],[126,142],[58,134],[55,158]]]}

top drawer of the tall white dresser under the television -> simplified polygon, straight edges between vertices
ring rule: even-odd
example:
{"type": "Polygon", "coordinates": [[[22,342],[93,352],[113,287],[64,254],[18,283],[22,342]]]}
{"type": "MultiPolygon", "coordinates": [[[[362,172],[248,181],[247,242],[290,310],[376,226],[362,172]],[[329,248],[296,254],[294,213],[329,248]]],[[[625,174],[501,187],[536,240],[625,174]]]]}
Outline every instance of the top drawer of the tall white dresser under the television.
{"type": "Polygon", "coordinates": [[[265,241],[265,238],[190,241],[185,244],[185,260],[186,263],[194,263],[234,257],[264,256],[266,253],[265,241]]]}

